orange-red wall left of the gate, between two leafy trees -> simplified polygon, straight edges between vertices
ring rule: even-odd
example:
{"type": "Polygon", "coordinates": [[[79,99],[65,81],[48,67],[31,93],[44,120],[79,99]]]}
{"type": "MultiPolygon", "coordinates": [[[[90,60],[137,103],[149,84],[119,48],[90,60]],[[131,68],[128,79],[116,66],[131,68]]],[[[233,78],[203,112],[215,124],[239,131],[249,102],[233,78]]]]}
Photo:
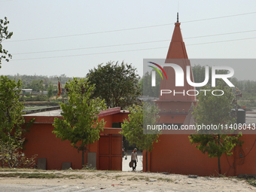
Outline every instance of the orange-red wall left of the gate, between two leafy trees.
{"type": "Polygon", "coordinates": [[[62,169],[64,162],[72,162],[72,169],[81,169],[82,154],[78,154],[69,141],[62,142],[56,138],[52,133],[53,128],[52,124],[46,123],[32,125],[30,132],[26,134],[27,142],[24,150],[26,156],[32,157],[33,154],[38,154],[37,159],[47,158],[47,169],[62,169]]]}

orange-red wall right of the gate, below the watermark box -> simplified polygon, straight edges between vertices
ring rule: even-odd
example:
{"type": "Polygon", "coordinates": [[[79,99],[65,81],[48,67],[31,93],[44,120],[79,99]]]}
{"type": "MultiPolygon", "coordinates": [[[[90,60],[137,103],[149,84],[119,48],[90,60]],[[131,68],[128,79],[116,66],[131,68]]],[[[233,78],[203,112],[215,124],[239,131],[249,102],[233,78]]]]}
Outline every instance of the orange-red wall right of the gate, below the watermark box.
{"type": "MultiPolygon", "coordinates": [[[[184,175],[218,175],[218,158],[209,158],[208,154],[203,154],[194,145],[190,145],[188,136],[161,135],[160,141],[154,143],[154,149],[148,155],[148,171],[184,175]]],[[[256,174],[256,145],[253,147],[255,139],[255,135],[242,136],[241,140],[245,141],[242,150],[245,154],[251,150],[244,158],[239,157],[241,149],[238,146],[233,156],[222,155],[222,174],[256,174]]],[[[145,171],[145,161],[143,163],[145,171]]]]}

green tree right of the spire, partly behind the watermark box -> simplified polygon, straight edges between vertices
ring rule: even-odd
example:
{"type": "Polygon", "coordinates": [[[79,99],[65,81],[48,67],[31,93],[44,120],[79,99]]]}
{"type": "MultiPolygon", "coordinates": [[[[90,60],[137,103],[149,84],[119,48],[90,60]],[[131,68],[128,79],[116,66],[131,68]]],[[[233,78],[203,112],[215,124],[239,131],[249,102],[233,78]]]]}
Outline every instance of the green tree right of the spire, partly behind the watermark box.
{"type": "MultiPolygon", "coordinates": [[[[210,87],[203,87],[202,90],[210,90],[210,87]]],[[[199,102],[197,107],[194,108],[194,118],[197,121],[197,125],[230,126],[235,123],[235,118],[231,114],[234,99],[232,89],[224,81],[218,81],[218,86],[213,87],[212,90],[207,93],[200,92],[197,96],[199,102]],[[223,90],[224,95],[213,96],[212,90],[223,90]]],[[[215,94],[220,93],[215,91],[215,94]]],[[[242,134],[230,136],[221,134],[219,130],[217,132],[208,131],[208,134],[204,133],[206,132],[202,131],[199,134],[190,135],[190,143],[191,145],[196,145],[203,154],[207,153],[210,158],[218,157],[218,172],[221,174],[221,155],[232,155],[232,149],[236,145],[242,145],[242,142],[239,141],[242,134]]]]}

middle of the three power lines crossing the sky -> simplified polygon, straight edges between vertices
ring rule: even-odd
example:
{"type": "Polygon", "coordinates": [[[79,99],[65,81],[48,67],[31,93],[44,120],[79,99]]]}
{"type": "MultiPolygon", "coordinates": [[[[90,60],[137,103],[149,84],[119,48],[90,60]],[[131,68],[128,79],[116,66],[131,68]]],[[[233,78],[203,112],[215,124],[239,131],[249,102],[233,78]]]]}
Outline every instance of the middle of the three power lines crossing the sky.
{"type": "MultiPolygon", "coordinates": [[[[251,31],[244,31],[244,32],[255,32],[256,30],[251,31]]],[[[197,36],[197,37],[190,37],[190,38],[204,38],[204,37],[211,37],[211,36],[218,36],[218,35],[230,35],[230,34],[237,34],[242,32],[228,32],[222,34],[215,34],[215,35],[204,35],[204,36],[197,36]]],[[[184,38],[188,39],[188,38],[184,38]]],[[[44,51],[35,51],[35,52],[27,52],[27,53],[13,53],[13,55],[20,55],[20,54],[32,54],[32,53],[53,53],[53,52],[60,52],[60,51],[68,51],[68,50],[87,50],[87,49],[95,49],[95,48],[103,48],[103,47],[118,47],[118,46],[126,46],[126,45],[134,45],[134,44],[150,44],[150,43],[157,43],[169,41],[168,40],[160,40],[160,41],[146,41],[146,42],[139,42],[139,43],[130,43],[130,44],[114,44],[114,45],[105,45],[105,46],[96,46],[96,47],[82,47],[82,48],[73,48],[73,49],[65,49],[65,50],[44,50],[44,51]]]]}

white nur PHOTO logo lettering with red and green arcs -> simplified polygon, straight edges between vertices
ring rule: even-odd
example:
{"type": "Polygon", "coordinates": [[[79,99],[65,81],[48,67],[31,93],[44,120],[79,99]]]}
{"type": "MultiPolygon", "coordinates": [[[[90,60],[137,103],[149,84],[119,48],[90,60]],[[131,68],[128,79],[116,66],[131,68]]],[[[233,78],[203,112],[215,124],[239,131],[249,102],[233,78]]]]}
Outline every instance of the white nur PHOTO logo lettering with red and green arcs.
{"type": "MultiPolygon", "coordinates": [[[[230,79],[234,75],[234,70],[230,66],[221,66],[221,65],[215,65],[212,67],[205,66],[203,72],[200,72],[200,75],[204,76],[204,79],[201,78],[201,81],[196,83],[193,80],[192,77],[192,69],[190,65],[187,65],[187,62],[189,62],[188,59],[172,59],[171,61],[166,63],[166,59],[148,59],[145,60],[145,64],[147,64],[147,69],[151,71],[151,87],[157,87],[156,84],[160,79],[156,77],[156,72],[159,73],[161,80],[165,81],[164,84],[173,84],[174,87],[173,90],[167,90],[167,89],[160,89],[160,96],[163,96],[163,94],[169,94],[173,93],[173,96],[176,94],[181,94],[183,96],[197,96],[200,91],[204,91],[205,95],[206,92],[210,90],[200,90],[198,89],[190,89],[183,91],[181,90],[181,87],[186,87],[185,85],[188,84],[191,87],[204,87],[206,84],[209,84],[212,82],[211,86],[216,87],[216,82],[218,79],[224,81],[229,87],[235,87],[231,82],[230,79]],[[148,63],[151,63],[152,65],[149,66],[148,63]],[[181,63],[181,64],[179,64],[181,63]],[[178,65],[179,64],[179,65],[178,65]],[[149,69],[149,68],[151,69],[149,69]],[[153,70],[152,70],[153,69],[153,70]],[[167,70],[165,72],[165,70],[167,70]],[[167,77],[167,75],[170,75],[169,72],[172,70],[172,77],[167,77]],[[174,73],[173,73],[174,72],[174,73]],[[221,72],[221,74],[220,74],[221,72]],[[225,72],[225,73],[223,73],[225,72]],[[166,79],[164,79],[164,77],[166,79]],[[157,81],[157,82],[156,82],[157,81]],[[176,87],[176,89],[175,89],[176,87]],[[177,90],[178,89],[178,90],[177,90]]],[[[217,63],[215,63],[217,64],[217,63]]],[[[221,64],[221,63],[220,63],[221,64]]],[[[149,71],[149,72],[150,72],[149,71]]],[[[148,93],[148,92],[147,92],[148,93]]],[[[222,96],[224,94],[223,90],[213,90],[212,95],[214,96],[222,96]],[[219,93],[220,92],[220,93],[219,93]]]]}

